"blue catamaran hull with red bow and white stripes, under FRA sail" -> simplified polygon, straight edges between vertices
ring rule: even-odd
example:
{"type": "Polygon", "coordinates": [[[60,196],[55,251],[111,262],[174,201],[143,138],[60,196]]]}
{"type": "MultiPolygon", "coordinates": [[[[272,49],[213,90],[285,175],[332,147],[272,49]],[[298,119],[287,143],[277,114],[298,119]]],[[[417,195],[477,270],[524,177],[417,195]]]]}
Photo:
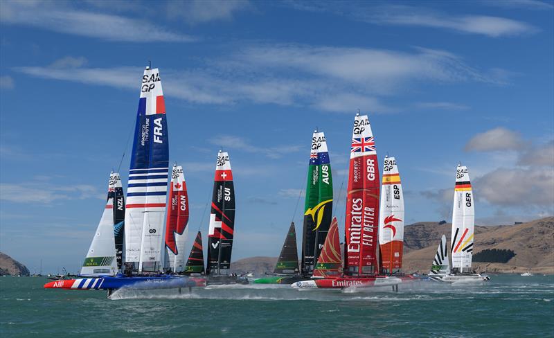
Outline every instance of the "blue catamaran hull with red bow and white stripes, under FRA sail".
{"type": "Polygon", "coordinates": [[[197,278],[184,276],[153,277],[100,277],[76,278],[53,281],[44,285],[45,289],[64,290],[117,290],[122,287],[136,289],[176,289],[179,287],[205,286],[197,278]]]}

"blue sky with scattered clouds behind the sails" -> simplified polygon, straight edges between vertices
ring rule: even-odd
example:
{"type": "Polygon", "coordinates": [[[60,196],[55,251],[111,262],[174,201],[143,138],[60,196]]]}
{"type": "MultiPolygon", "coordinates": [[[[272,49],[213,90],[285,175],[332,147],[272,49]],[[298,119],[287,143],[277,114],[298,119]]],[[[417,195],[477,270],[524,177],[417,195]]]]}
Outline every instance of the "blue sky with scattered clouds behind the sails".
{"type": "Polygon", "coordinates": [[[126,184],[149,61],[204,241],[229,152],[233,260],[277,256],[291,220],[301,240],[315,129],[343,229],[358,109],[379,166],[397,160],[406,224],[452,217],[458,162],[476,224],[553,215],[553,13],[535,0],[1,1],[0,251],[31,272],[81,265],[109,172],[126,184]]]}

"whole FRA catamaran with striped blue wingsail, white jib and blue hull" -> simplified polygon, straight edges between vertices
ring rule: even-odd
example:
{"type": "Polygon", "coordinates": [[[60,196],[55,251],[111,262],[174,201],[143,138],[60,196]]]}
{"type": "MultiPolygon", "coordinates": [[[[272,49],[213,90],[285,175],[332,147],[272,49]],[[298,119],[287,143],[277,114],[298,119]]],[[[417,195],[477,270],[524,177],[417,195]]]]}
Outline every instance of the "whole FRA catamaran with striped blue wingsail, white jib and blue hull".
{"type": "MultiPolygon", "coordinates": [[[[114,181],[114,197],[108,196],[105,213],[98,225],[98,238],[93,239],[81,272],[83,276],[94,278],[53,281],[44,287],[102,289],[111,293],[111,290],[129,285],[141,288],[196,286],[195,281],[186,277],[159,275],[168,190],[168,127],[158,69],[146,67],[141,83],[125,208],[126,276],[116,275],[118,236],[114,233],[119,235],[117,228],[120,223],[116,224],[114,217],[113,200],[118,196],[118,179],[114,178],[114,181]]],[[[119,206],[116,210],[120,210],[119,206]]]]}

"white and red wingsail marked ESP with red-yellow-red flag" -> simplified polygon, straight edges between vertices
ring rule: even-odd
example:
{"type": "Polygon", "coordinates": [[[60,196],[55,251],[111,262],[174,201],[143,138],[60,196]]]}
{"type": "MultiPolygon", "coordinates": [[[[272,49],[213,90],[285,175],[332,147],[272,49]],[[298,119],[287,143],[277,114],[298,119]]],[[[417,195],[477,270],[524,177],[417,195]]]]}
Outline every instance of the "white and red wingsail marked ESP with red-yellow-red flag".
{"type": "Polygon", "coordinates": [[[404,247],[404,195],[394,157],[385,157],[379,212],[379,267],[383,274],[400,273],[404,247]]]}

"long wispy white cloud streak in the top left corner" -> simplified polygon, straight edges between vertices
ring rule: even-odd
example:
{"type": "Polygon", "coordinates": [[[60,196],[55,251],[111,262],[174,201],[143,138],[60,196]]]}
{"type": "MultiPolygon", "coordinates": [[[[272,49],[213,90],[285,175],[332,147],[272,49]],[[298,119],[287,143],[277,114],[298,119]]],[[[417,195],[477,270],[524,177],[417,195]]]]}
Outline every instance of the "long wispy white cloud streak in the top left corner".
{"type": "Polygon", "coordinates": [[[2,24],[31,26],[57,33],[124,42],[190,42],[148,21],[64,6],[60,1],[2,1],[2,24]]]}

